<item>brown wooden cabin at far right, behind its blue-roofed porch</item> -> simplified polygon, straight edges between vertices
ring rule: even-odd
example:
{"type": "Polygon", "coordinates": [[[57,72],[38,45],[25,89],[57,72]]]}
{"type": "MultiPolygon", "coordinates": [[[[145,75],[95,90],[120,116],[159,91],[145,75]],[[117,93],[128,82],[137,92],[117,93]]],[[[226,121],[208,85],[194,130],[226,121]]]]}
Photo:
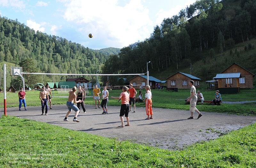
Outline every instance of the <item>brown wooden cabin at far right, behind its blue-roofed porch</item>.
{"type": "MultiPolygon", "coordinates": [[[[240,88],[253,88],[253,79],[252,78],[255,75],[236,63],[233,63],[232,65],[230,65],[222,73],[240,73],[241,74],[241,77],[239,78],[240,88]]],[[[226,85],[227,84],[228,84],[228,82],[226,82],[226,85]]],[[[234,84],[237,86],[236,82],[234,84]]],[[[230,85],[232,86],[234,84],[231,81],[230,85]]],[[[223,84],[221,84],[221,87],[223,87],[223,84]]]]}

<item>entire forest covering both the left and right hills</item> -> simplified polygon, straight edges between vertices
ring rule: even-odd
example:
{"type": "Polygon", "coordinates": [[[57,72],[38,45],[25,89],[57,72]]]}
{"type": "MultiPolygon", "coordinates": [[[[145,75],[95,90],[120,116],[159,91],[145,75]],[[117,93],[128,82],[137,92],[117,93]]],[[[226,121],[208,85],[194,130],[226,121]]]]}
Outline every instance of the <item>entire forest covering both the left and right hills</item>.
{"type": "MultiPolygon", "coordinates": [[[[166,17],[144,41],[121,50],[112,47],[92,50],[59,36],[35,32],[17,19],[0,17],[0,62],[23,66],[23,72],[96,73],[99,70],[99,73],[121,74],[146,73],[146,62],[150,61],[149,72],[158,75],[170,69],[172,72],[183,71],[202,60],[204,67],[193,75],[208,80],[221,72],[216,67],[227,67],[227,63],[235,60],[233,58],[242,59],[241,51],[233,49],[236,44],[248,42],[246,49],[254,47],[249,42],[255,38],[255,24],[254,0],[197,0],[177,15],[166,17]],[[224,55],[227,51],[230,54],[224,55]],[[225,61],[218,62],[220,58],[215,57],[217,54],[223,54],[225,61]],[[217,71],[212,72],[212,68],[217,71]]],[[[240,62],[255,72],[250,62],[240,62]]],[[[69,77],[42,75],[28,79],[25,76],[25,80],[32,87],[35,82],[65,81],[69,77]]],[[[1,88],[2,78],[1,75],[1,88]]],[[[95,80],[92,76],[86,78],[95,80]]],[[[99,79],[107,81],[107,77],[99,79]]],[[[164,80],[164,77],[160,79],[164,80]]],[[[7,79],[7,86],[18,86],[19,82],[19,78],[12,77],[7,79]]]]}

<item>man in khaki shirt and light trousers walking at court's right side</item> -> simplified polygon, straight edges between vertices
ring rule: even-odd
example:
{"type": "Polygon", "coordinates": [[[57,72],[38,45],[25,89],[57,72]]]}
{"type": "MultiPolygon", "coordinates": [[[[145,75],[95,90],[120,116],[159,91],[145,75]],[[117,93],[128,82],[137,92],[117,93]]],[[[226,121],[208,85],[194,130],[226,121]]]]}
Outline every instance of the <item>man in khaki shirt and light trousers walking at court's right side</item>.
{"type": "Polygon", "coordinates": [[[191,87],[190,89],[190,97],[188,98],[187,102],[190,102],[189,105],[189,110],[190,110],[190,114],[191,116],[188,119],[194,119],[193,114],[196,111],[198,113],[198,118],[200,118],[203,114],[201,114],[197,108],[196,108],[196,102],[197,102],[197,96],[196,96],[196,87],[193,85],[194,81],[190,80],[188,82],[189,86],[191,87]]]}

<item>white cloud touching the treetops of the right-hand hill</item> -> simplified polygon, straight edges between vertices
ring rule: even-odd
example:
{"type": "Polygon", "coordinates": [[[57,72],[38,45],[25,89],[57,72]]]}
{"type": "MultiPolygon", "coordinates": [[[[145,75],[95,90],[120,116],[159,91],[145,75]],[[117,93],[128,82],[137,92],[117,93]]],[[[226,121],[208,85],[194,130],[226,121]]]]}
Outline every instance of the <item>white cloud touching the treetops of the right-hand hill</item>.
{"type": "Polygon", "coordinates": [[[171,18],[173,15],[179,14],[181,9],[185,9],[190,4],[193,4],[196,0],[187,0],[187,3],[184,5],[176,5],[174,8],[170,9],[169,11],[164,11],[163,9],[160,9],[158,13],[156,14],[156,24],[161,25],[164,18],[171,18]]]}

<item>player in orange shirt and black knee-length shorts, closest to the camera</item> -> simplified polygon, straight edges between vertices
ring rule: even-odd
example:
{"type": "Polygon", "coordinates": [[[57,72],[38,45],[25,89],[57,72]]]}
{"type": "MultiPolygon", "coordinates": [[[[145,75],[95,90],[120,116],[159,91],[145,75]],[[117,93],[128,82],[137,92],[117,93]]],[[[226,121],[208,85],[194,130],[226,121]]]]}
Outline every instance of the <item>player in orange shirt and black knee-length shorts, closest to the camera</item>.
{"type": "Polygon", "coordinates": [[[128,113],[129,113],[129,93],[127,93],[128,88],[126,86],[123,86],[123,92],[119,95],[119,97],[113,97],[111,96],[111,98],[113,99],[121,99],[122,103],[121,103],[121,109],[120,109],[120,119],[121,119],[121,126],[118,127],[124,127],[124,116],[126,117],[127,120],[127,124],[125,126],[130,126],[130,122],[129,122],[129,117],[128,117],[128,113]]]}

